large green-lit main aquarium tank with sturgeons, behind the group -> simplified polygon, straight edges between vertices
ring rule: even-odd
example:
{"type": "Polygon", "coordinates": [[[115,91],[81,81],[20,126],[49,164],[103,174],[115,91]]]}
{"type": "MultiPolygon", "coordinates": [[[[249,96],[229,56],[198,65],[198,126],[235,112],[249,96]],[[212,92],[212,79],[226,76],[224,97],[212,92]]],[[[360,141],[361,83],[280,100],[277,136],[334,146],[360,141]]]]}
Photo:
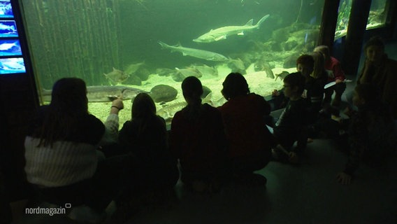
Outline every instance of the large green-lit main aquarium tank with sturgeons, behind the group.
{"type": "Polygon", "coordinates": [[[198,77],[203,102],[221,106],[222,82],[243,73],[266,97],[319,38],[324,0],[20,0],[41,102],[56,80],[88,86],[89,111],[106,120],[120,94],[150,92],[170,122],[185,106],[181,82],[198,77]]]}

